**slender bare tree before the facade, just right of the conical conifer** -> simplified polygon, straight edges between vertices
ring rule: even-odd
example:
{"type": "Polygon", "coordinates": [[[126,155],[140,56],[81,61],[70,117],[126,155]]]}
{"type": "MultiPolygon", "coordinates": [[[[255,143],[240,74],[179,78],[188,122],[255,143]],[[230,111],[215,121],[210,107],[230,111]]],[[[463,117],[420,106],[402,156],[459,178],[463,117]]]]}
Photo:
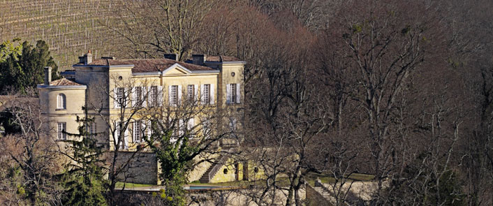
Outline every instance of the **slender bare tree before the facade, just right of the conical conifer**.
{"type": "MultiPolygon", "coordinates": [[[[149,98],[150,88],[152,82],[147,80],[137,82],[135,80],[119,80],[117,75],[109,77],[115,88],[110,91],[107,82],[99,82],[94,87],[91,87],[91,99],[87,103],[89,108],[89,116],[96,117],[96,121],[101,119],[105,129],[108,132],[96,134],[100,138],[108,137],[108,139],[100,140],[100,144],[107,145],[108,149],[107,161],[108,165],[108,179],[109,185],[109,203],[115,204],[115,186],[117,182],[126,182],[127,177],[132,174],[128,174],[129,168],[132,165],[138,165],[135,161],[138,161],[140,152],[145,151],[147,145],[140,144],[139,142],[148,135],[149,130],[147,122],[142,121],[146,119],[146,112],[152,110],[154,102],[149,98]],[[110,101],[111,100],[111,101],[110,101]],[[148,101],[149,100],[149,101],[148,101]],[[114,105],[108,105],[109,102],[113,102],[114,105]],[[109,112],[109,108],[117,108],[117,112],[112,114],[109,112]],[[139,131],[133,130],[133,124],[139,124],[139,131]],[[133,133],[138,133],[134,135],[133,133]],[[141,140],[129,140],[129,138],[138,136],[141,140]],[[130,142],[132,142],[130,144],[130,142]],[[131,152],[127,156],[123,156],[124,152],[131,152]],[[122,177],[124,176],[124,177],[122,177]]],[[[162,95],[153,94],[154,96],[162,95]]],[[[122,188],[124,189],[124,188],[122,188]]]]}

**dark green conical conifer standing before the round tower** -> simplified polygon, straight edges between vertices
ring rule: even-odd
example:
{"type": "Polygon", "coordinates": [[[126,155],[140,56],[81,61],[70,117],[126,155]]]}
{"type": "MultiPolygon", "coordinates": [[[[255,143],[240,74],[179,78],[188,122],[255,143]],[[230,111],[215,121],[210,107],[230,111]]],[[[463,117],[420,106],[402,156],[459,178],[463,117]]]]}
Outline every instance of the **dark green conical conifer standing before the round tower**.
{"type": "Polygon", "coordinates": [[[89,125],[94,117],[77,117],[80,124],[78,134],[68,133],[73,140],[68,140],[69,150],[66,154],[72,160],[64,175],[66,187],[65,205],[106,205],[103,193],[102,147],[98,146],[95,133],[90,133],[89,125]]]}

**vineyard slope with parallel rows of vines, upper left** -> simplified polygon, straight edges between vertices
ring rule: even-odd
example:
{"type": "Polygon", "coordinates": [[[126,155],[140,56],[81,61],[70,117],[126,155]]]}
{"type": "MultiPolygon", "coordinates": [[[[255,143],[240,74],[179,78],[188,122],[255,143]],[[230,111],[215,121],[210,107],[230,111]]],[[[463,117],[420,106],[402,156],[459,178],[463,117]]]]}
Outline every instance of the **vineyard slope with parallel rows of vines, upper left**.
{"type": "Polygon", "coordinates": [[[111,0],[0,0],[0,41],[43,39],[61,71],[87,50],[96,57],[117,55],[117,34],[102,26],[115,6],[111,0]]]}

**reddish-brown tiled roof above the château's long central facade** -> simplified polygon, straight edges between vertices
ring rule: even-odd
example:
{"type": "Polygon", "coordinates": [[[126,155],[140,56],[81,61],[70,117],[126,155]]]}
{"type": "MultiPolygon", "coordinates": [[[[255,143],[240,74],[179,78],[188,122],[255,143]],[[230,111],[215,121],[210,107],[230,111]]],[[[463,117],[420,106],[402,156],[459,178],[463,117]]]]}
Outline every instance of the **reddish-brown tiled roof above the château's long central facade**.
{"type": "MultiPolygon", "coordinates": [[[[164,71],[173,64],[179,64],[190,71],[214,71],[214,68],[196,64],[174,61],[171,59],[96,59],[89,63],[92,66],[122,66],[133,64],[133,73],[164,71]]],[[[76,64],[83,65],[83,64],[76,64]]]]}

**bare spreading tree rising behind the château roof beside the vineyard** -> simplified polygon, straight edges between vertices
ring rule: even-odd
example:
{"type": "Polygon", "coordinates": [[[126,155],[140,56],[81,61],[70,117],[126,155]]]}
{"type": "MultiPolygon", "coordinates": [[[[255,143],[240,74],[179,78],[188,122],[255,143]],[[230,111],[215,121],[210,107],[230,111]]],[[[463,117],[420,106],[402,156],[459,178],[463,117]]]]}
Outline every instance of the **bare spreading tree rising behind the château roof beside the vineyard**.
{"type": "Polygon", "coordinates": [[[162,57],[177,54],[178,61],[189,56],[201,39],[204,18],[216,7],[217,1],[125,1],[117,11],[115,25],[110,29],[130,41],[138,57],[162,57]]]}

